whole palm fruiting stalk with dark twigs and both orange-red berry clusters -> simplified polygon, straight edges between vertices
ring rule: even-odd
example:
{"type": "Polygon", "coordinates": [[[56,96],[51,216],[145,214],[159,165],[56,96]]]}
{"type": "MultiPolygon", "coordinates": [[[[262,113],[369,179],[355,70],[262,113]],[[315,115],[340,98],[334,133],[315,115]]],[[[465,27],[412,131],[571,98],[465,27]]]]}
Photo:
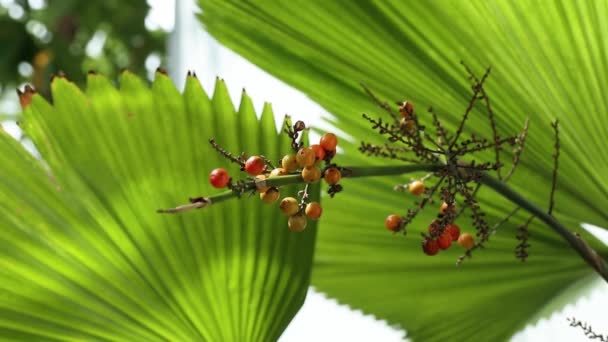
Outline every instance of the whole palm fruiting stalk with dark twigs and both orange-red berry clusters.
{"type": "MultiPolygon", "coordinates": [[[[428,231],[421,233],[422,250],[425,254],[435,255],[440,250],[450,248],[452,243],[457,241],[466,250],[457,260],[457,264],[461,264],[466,258],[472,256],[473,251],[484,248],[499,226],[507,222],[518,210],[524,209],[532,214],[532,217],[518,230],[519,244],[516,248],[516,255],[519,259],[525,260],[528,257],[528,226],[532,218],[537,218],[568,241],[572,248],[608,281],[608,267],[604,260],[580,236],[567,230],[552,216],[559,156],[557,122],[553,124],[555,130],[553,182],[550,189],[549,209],[545,211],[527,201],[506,184],[519,163],[528,134],[528,120],[525,121],[521,132],[501,137],[496,124],[496,114],[484,89],[490,69],[488,68],[485,74],[478,78],[468,67],[465,66],[465,68],[472,81],[472,96],[460,123],[452,133],[448,132],[446,126],[441,122],[440,116],[432,108],[428,110],[428,118],[422,117],[423,121],[431,122],[433,132],[421,124],[411,102],[399,101],[397,102],[398,108],[393,109],[387,102],[381,101],[374,95],[369,88],[363,86],[372,100],[388,114],[388,119],[363,114],[363,118],[371,125],[372,131],[383,137],[385,141],[381,145],[362,142],[359,151],[370,157],[388,158],[405,163],[395,166],[368,167],[336,165],[333,163],[333,157],[336,155],[338,140],[334,134],[326,133],[319,144],[304,147],[299,140],[300,132],[305,129],[304,123],[298,121],[292,125],[287,118],[284,133],[291,139],[291,147],[296,153],[284,156],[278,167],[272,165],[270,160],[264,156],[251,156],[247,159],[247,155],[243,152],[239,157],[235,157],[211,140],[213,148],[218,153],[230,161],[238,163],[241,170],[248,173],[249,177],[233,181],[225,170],[215,169],[210,175],[211,184],[217,188],[227,187],[228,191],[208,197],[192,198],[190,204],[161,209],[159,212],[178,213],[199,209],[256,191],[260,193],[263,202],[270,204],[278,201],[282,186],[310,184],[317,182],[320,178],[324,178],[329,185],[327,192],[333,197],[337,192],[342,191],[342,186],[339,184],[342,178],[390,176],[424,171],[427,172],[424,177],[395,186],[395,190],[407,190],[414,196],[420,196],[420,200],[402,215],[389,215],[386,218],[385,227],[395,233],[407,234],[408,226],[419,212],[436,201],[441,203],[436,218],[428,225],[428,231]],[[485,104],[484,108],[490,121],[491,137],[469,134],[465,138],[466,121],[476,108],[478,101],[483,101],[485,104]],[[505,147],[510,147],[512,150],[512,163],[508,172],[502,177],[501,169],[505,165],[501,162],[501,153],[506,150],[505,147]],[[494,152],[493,160],[480,160],[479,158],[485,154],[479,152],[488,150],[494,152]],[[490,173],[496,173],[496,177],[491,176],[490,173]],[[476,198],[481,186],[493,189],[516,204],[517,207],[504,219],[491,225],[476,198]],[[455,224],[465,210],[470,212],[472,228],[475,229],[474,234],[461,232],[461,228],[455,224]]],[[[288,225],[292,231],[301,231],[306,226],[307,219],[318,219],[322,211],[319,203],[308,201],[308,185],[299,193],[298,197],[299,200],[286,197],[280,201],[280,209],[289,216],[288,225]]]]}

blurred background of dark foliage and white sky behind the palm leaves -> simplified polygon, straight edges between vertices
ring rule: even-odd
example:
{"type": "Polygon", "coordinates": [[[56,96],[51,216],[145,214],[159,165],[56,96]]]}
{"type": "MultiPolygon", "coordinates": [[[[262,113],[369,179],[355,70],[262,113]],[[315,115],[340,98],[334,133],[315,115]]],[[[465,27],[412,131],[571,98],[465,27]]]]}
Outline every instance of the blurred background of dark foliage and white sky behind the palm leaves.
{"type": "MultiPolygon", "coordinates": [[[[264,102],[271,102],[279,115],[289,113],[298,119],[306,113],[308,121],[315,118],[312,124],[327,128],[322,118],[329,113],[222,47],[205,33],[197,11],[193,0],[0,0],[2,126],[34,152],[16,125],[20,108],[15,89],[27,83],[48,97],[49,79],[59,72],[84,87],[90,70],[117,79],[121,70],[129,69],[152,79],[162,66],[179,89],[188,70],[197,73],[208,93],[219,76],[226,80],[235,103],[245,88],[258,112],[264,102]]],[[[588,229],[608,242],[607,236],[600,235],[605,231],[588,229]]],[[[608,327],[598,320],[606,307],[608,290],[605,284],[596,283],[577,301],[550,319],[526,327],[513,340],[586,341],[580,329],[569,327],[566,318],[575,316],[606,333],[608,327]]],[[[311,289],[282,340],[402,341],[407,338],[406,330],[341,306],[311,289]]]]}

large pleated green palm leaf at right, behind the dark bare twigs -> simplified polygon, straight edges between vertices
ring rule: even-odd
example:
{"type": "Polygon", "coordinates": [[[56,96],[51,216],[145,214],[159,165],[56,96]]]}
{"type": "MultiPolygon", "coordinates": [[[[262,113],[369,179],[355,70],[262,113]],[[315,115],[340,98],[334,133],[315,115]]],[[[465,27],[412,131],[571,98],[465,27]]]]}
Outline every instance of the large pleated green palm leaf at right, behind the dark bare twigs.
{"type": "MultiPolygon", "coordinates": [[[[600,19],[606,2],[200,4],[203,23],[220,42],[304,91],[335,115],[336,127],[357,140],[382,141],[370,138],[360,118],[362,112],[379,113],[360,82],[382,99],[413,100],[427,123],[424,109],[432,105],[454,128],[470,97],[460,61],[479,74],[491,65],[486,90],[499,134],[520,130],[530,118],[513,187],[534,203],[547,203],[553,145],[549,122],[559,118],[563,158],[556,215],[573,230],[582,221],[608,226],[603,176],[608,158],[599,148],[608,133],[603,38],[608,27],[600,19]]],[[[483,108],[474,110],[468,132],[490,135],[483,108]]],[[[342,144],[346,156],[341,160],[369,163],[357,154],[357,144],[342,144]]],[[[503,161],[510,160],[504,152],[503,161]]],[[[591,273],[539,224],[531,227],[530,259],[517,263],[514,228],[523,215],[502,227],[489,249],[461,269],[453,267],[455,251],[424,258],[416,236],[434,213],[419,219],[422,226],[412,227],[412,237],[406,239],[380,228],[387,214],[413,204],[389,190],[404,181],[344,182],[343,196],[326,204],[313,285],[403,325],[417,340],[495,340],[508,338],[569,284],[591,273]],[[490,306],[500,306],[500,312],[490,306]]],[[[512,209],[490,192],[481,198],[490,221],[512,209]]],[[[605,246],[596,247],[607,253],[605,246]]]]}

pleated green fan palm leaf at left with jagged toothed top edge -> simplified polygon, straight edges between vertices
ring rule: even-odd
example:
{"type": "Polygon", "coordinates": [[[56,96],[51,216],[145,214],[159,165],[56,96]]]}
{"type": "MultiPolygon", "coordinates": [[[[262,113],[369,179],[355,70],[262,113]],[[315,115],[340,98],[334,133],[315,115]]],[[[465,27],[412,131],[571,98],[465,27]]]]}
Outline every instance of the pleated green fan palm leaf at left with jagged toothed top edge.
{"type": "MultiPolygon", "coordinates": [[[[227,166],[207,140],[279,158],[270,106],[260,121],[223,81],[180,94],[125,73],[86,93],[52,83],[23,127],[44,162],[0,134],[0,336],[11,340],[276,339],[301,306],[315,227],[286,228],[276,206],[229,201],[184,215],[158,207],[210,194],[227,166]]],[[[230,166],[232,175],[238,168],[230,166]]],[[[314,196],[318,196],[315,191],[314,196]]]]}

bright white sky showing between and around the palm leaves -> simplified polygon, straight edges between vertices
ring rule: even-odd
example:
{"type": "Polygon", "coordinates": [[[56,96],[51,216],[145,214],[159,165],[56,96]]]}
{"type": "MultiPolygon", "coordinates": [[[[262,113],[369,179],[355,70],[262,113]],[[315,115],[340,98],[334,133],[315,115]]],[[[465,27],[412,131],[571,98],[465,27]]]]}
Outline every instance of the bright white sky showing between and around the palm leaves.
{"type": "MultiPolygon", "coordinates": [[[[207,35],[193,16],[193,0],[180,1],[176,15],[175,0],[148,0],[152,6],[146,26],[159,27],[167,31],[175,28],[169,43],[169,72],[175,82],[182,87],[187,70],[195,70],[205,90],[212,93],[215,76],[226,80],[233,101],[239,103],[243,88],[251,96],[255,108],[261,111],[264,102],[271,102],[277,116],[289,113],[295,119],[305,119],[317,127],[329,128],[320,118],[329,115],[323,108],[310,101],[304,94],[273,78],[235,53],[221,47],[207,35]],[[175,20],[179,18],[179,20],[175,20]],[[187,51],[187,52],[185,52],[187,51]],[[293,112],[297,109],[297,112],[293,112]]],[[[155,69],[158,61],[152,59],[150,69],[155,69]]],[[[15,112],[15,99],[0,99],[0,110],[15,112]]],[[[19,136],[18,128],[12,124],[3,125],[13,135],[19,136]]],[[[335,129],[334,129],[335,130],[335,129]]],[[[589,228],[608,243],[608,232],[589,228]]],[[[599,237],[599,236],[598,236],[599,237]]],[[[515,262],[515,261],[514,261],[515,262]]],[[[598,333],[608,334],[608,286],[598,281],[593,289],[550,319],[543,319],[535,326],[528,326],[516,334],[512,341],[589,341],[580,328],[572,328],[567,317],[577,317],[587,321],[598,333]]],[[[406,327],[407,328],[407,327],[406,327]]],[[[282,342],[308,341],[402,341],[405,332],[390,327],[384,321],[365,316],[322,294],[310,289],[306,302],[291,325],[281,337],[282,342]]]]}

